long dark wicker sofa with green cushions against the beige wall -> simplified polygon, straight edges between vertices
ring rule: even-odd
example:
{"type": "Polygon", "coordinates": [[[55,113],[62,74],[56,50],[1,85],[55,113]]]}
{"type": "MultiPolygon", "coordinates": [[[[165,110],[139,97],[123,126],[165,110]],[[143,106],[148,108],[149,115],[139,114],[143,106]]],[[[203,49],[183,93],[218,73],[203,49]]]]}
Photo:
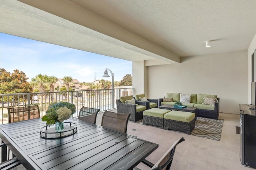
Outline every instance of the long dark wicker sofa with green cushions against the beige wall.
{"type": "MultiPolygon", "coordinates": [[[[180,102],[180,93],[166,93],[164,98],[172,98],[173,102],[164,102],[163,98],[160,98],[158,99],[158,106],[164,104],[174,105],[175,102],[180,102]]],[[[220,98],[217,98],[217,95],[210,94],[191,94],[190,103],[182,103],[182,105],[197,107],[196,115],[199,117],[218,119],[220,111],[220,98]],[[203,104],[204,98],[216,98],[218,102],[215,102],[214,106],[203,104]]]]}

